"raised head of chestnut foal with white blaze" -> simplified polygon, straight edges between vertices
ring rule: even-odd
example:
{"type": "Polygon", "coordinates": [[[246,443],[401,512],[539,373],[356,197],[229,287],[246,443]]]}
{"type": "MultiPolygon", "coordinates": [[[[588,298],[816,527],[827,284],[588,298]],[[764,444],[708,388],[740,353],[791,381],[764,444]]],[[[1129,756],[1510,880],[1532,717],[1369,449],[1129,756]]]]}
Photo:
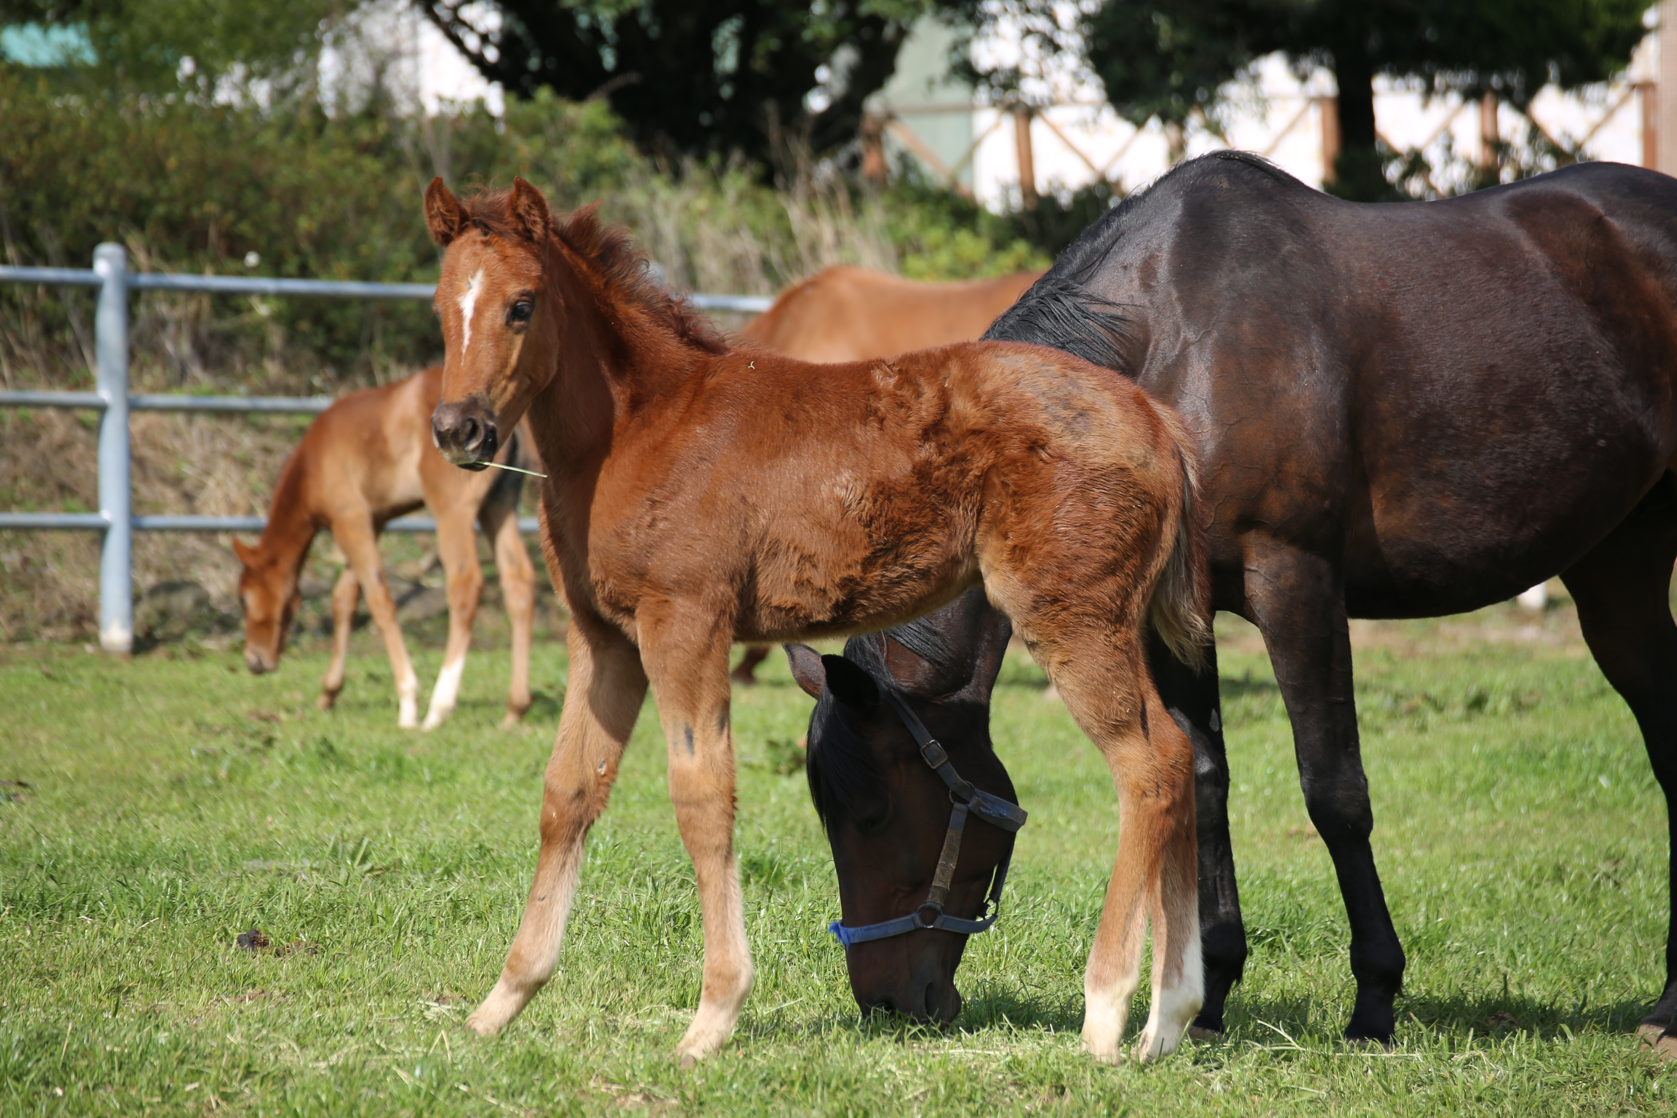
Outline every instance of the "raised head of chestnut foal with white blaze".
{"type": "Polygon", "coordinates": [[[563,300],[548,298],[553,220],[523,179],[470,208],[431,179],[424,215],[446,250],[436,315],[448,352],[431,439],[456,466],[483,469],[557,367],[563,300]]]}

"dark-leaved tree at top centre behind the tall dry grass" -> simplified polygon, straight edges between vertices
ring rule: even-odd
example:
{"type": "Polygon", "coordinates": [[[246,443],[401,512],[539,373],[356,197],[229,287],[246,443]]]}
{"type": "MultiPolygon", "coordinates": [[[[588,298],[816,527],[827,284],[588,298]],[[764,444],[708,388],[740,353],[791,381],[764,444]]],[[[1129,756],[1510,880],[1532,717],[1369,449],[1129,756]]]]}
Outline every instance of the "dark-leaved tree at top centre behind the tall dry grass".
{"type": "Polygon", "coordinates": [[[929,0],[416,0],[510,92],[605,97],[646,149],[849,142],[929,0]]]}

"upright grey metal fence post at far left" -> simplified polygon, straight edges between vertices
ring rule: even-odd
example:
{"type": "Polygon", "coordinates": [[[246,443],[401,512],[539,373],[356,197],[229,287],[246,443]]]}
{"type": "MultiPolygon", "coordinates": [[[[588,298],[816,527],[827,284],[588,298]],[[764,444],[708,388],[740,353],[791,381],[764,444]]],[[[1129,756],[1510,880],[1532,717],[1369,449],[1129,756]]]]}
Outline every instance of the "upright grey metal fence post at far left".
{"type": "Polygon", "coordinates": [[[106,518],[99,555],[99,644],[106,652],[134,650],[134,518],[127,449],[127,251],[104,243],[94,248],[99,312],[94,317],[97,384],[104,397],[99,419],[99,515],[106,518]]]}

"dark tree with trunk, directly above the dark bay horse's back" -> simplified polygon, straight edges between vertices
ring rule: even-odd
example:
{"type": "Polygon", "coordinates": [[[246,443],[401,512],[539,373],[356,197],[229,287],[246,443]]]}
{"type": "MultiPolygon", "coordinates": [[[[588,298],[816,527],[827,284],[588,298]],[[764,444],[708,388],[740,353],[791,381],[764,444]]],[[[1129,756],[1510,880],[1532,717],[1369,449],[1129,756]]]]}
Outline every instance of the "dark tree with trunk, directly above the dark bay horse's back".
{"type": "MultiPolygon", "coordinates": [[[[1055,0],[1023,0],[1053,8],[1055,0]]],[[[1254,59],[1283,50],[1295,67],[1323,65],[1338,82],[1340,156],[1332,189],[1395,196],[1373,121],[1377,74],[1436,92],[1496,92],[1524,107],[1548,82],[1602,82],[1647,34],[1648,0],[1105,0],[1080,27],[1082,50],[1127,119],[1181,126],[1254,59]]],[[[998,12],[968,0],[979,20],[998,12]]]]}

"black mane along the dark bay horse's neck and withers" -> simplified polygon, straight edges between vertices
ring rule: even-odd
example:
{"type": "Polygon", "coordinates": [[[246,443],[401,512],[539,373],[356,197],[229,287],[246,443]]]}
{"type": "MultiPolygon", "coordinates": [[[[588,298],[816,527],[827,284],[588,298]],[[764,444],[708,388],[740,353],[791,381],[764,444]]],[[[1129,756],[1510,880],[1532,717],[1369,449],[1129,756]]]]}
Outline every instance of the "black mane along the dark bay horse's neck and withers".
{"type": "Polygon", "coordinates": [[[1179,163],[1150,186],[1130,193],[1083,230],[1083,235],[1060,253],[1048,275],[1036,280],[1020,302],[984,330],[983,340],[1050,345],[1134,379],[1135,362],[1129,352],[1134,332],[1125,318],[1125,307],[1100,298],[1085,283],[1105,263],[1132,216],[1149,201],[1214,174],[1244,171],[1286,179],[1286,173],[1263,156],[1248,151],[1212,151],[1179,163]]]}

